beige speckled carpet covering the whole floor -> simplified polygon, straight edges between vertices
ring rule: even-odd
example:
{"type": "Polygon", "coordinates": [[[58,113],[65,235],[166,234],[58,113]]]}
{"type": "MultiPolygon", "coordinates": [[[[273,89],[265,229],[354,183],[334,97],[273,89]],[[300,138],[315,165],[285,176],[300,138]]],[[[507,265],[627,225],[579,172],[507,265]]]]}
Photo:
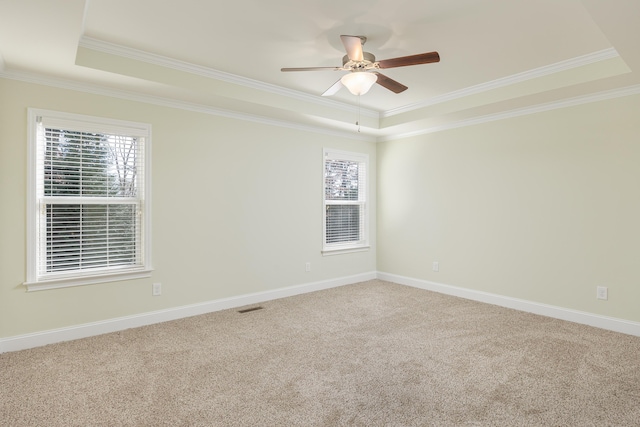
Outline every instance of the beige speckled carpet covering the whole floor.
{"type": "Polygon", "coordinates": [[[0,355],[3,426],[638,426],[640,338],[382,281],[0,355]]]}

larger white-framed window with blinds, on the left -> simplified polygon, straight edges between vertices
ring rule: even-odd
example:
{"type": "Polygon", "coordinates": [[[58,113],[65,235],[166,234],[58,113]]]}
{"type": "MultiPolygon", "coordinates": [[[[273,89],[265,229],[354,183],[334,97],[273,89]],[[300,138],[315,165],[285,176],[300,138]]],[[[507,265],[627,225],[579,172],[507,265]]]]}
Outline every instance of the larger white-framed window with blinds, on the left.
{"type": "Polygon", "coordinates": [[[29,290],[149,276],[150,134],[29,110],[29,290]]]}

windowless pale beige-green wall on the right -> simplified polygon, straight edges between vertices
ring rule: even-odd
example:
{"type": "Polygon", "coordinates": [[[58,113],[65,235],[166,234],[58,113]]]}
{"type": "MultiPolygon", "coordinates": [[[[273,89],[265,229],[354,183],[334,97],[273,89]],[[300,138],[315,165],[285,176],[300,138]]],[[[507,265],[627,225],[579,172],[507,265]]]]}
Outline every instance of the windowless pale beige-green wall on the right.
{"type": "Polygon", "coordinates": [[[378,144],[378,271],[640,321],[638,111],[628,96],[378,144]]]}

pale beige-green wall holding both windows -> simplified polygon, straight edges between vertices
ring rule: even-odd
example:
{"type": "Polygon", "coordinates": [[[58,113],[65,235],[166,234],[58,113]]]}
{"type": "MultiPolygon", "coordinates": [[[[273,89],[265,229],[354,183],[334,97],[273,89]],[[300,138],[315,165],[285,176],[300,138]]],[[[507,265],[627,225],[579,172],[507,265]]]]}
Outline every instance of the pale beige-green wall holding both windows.
{"type": "Polygon", "coordinates": [[[0,338],[375,271],[375,150],[355,139],[0,79],[0,338]],[[28,107],[152,125],[152,278],[25,291],[28,107]],[[320,253],[323,147],[370,156],[368,252],[320,253]],[[151,296],[154,282],[162,283],[160,297],[151,296]]]}

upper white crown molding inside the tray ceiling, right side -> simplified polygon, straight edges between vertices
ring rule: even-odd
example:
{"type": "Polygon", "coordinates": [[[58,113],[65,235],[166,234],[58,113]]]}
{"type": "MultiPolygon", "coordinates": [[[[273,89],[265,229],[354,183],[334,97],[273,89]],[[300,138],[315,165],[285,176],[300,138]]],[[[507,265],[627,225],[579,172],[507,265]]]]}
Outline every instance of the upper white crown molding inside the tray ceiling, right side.
{"type": "Polygon", "coordinates": [[[464,89],[456,90],[453,92],[445,93],[443,95],[434,96],[422,102],[414,104],[404,105],[402,107],[393,108],[380,113],[380,118],[392,117],[398,114],[407,113],[409,111],[418,110],[420,108],[429,107],[435,104],[441,104],[447,101],[453,101],[455,99],[464,98],[466,96],[475,95],[482,92],[498,89],[501,87],[509,86],[515,83],[521,83],[527,80],[537,79],[540,77],[548,76],[561,71],[570,70],[573,68],[583,67],[585,65],[593,64],[600,61],[606,61],[608,59],[617,58],[620,55],[614,48],[608,48],[597,52],[589,53],[586,55],[578,56],[575,58],[567,59],[565,61],[556,62],[555,64],[545,65],[544,67],[534,68],[533,70],[524,71],[522,73],[513,74],[500,79],[492,80],[489,82],[481,83],[475,86],[470,86],[464,89]]]}

